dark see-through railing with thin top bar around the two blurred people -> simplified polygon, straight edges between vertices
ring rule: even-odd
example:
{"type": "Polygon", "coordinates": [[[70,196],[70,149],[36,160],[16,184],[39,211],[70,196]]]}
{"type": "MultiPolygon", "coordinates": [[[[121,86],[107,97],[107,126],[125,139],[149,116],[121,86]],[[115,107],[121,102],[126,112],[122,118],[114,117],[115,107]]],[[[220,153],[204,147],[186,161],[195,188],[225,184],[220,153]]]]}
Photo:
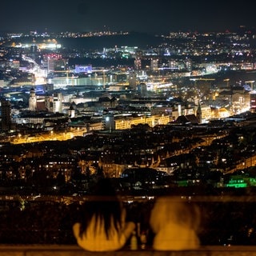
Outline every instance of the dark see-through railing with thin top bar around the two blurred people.
{"type": "MultiPolygon", "coordinates": [[[[234,195],[233,193],[226,196],[220,194],[217,196],[181,197],[186,202],[196,202],[201,210],[202,221],[200,230],[198,230],[202,244],[198,250],[200,254],[217,255],[218,251],[223,251],[218,254],[222,255],[230,250],[233,254],[234,250],[242,250],[244,252],[242,255],[247,255],[247,251],[256,251],[255,197],[254,193],[249,194],[249,192],[251,191],[247,190],[248,195],[244,195],[244,193],[243,195],[234,195]]],[[[10,255],[13,255],[15,250],[20,252],[18,255],[32,255],[34,246],[37,248],[36,250],[43,251],[40,255],[48,255],[47,251],[55,251],[54,248],[59,251],[64,250],[65,254],[72,251],[72,256],[82,252],[82,249],[77,246],[72,232],[72,225],[78,219],[81,198],[79,200],[78,198],[69,198],[68,202],[57,197],[40,198],[40,200],[18,198],[13,197],[9,201],[0,201],[0,244],[5,245],[2,247],[1,253],[8,250],[10,255]]],[[[154,199],[150,200],[144,197],[128,199],[124,203],[129,218],[139,223],[142,229],[148,229],[148,220],[150,210],[154,206],[154,199]]],[[[152,249],[151,242],[152,239],[149,237],[147,250],[146,252],[139,250],[141,254],[157,254],[152,249]]],[[[129,251],[129,242],[127,242],[126,248],[129,251]]],[[[88,253],[86,252],[84,255],[88,255],[88,253]]],[[[122,250],[122,252],[114,254],[128,253],[126,250],[122,250]]],[[[132,251],[132,254],[137,254],[137,252],[132,251]]],[[[169,255],[169,253],[165,255],[169,255]]]]}

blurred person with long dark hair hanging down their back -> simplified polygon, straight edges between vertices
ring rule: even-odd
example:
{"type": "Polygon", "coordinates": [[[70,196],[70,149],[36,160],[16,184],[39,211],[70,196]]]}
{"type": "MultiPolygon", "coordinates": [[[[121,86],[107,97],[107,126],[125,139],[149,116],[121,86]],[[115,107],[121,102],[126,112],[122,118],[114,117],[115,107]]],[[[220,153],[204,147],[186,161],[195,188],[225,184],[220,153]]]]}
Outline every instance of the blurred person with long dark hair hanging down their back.
{"type": "Polygon", "coordinates": [[[90,251],[119,250],[134,229],[134,222],[126,222],[126,209],[110,179],[100,178],[90,200],[82,205],[80,222],[73,226],[78,246],[90,251]]]}

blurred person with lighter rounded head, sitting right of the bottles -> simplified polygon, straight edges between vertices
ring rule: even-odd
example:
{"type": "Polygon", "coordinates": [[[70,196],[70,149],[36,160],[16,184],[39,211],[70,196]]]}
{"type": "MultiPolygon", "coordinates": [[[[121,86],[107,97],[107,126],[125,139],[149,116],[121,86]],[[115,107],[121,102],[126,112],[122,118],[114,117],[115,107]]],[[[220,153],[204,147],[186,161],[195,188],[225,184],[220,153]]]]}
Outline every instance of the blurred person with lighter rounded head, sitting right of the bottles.
{"type": "Polygon", "coordinates": [[[178,197],[157,198],[150,213],[154,250],[193,250],[200,246],[198,206],[178,197]]]}

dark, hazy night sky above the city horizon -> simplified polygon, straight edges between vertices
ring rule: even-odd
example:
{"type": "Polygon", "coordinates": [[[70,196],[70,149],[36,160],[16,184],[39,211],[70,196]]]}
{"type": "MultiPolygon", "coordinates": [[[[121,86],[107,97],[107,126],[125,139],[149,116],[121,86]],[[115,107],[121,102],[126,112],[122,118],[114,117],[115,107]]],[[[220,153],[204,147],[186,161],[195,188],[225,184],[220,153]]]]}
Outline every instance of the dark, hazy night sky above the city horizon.
{"type": "Polygon", "coordinates": [[[223,32],[254,28],[254,1],[1,0],[0,31],[223,32]]]}

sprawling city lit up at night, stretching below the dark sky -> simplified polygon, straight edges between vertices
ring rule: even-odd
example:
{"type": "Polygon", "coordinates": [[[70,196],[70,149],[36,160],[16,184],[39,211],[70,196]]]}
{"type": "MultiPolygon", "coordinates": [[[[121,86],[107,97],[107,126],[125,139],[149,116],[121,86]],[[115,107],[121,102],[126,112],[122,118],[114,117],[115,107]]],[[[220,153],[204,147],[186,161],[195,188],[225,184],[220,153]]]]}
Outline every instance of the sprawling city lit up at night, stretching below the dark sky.
{"type": "Polygon", "coordinates": [[[137,235],[178,196],[200,206],[202,246],[254,246],[255,42],[246,26],[0,34],[2,243],[74,246],[110,178],[137,235]]]}

